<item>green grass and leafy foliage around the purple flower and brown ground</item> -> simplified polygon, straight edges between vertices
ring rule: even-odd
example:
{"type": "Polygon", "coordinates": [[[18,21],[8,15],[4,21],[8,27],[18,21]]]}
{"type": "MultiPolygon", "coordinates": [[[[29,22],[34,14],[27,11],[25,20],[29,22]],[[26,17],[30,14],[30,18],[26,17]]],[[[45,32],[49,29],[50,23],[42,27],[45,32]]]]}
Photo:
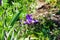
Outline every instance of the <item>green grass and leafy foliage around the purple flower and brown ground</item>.
{"type": "MultiPolygon", "coordinates": [[[[1,2],[0,40],[55,40],[60,33],[58,26],[45,17],[40,17],[37,23],[24,24],[26,15],[34,10],[35,6],[32,4],[36,5],[35,0],[1,0],[1,2]]],[[[49,2],[60,8],[57,0],[49,2]]]]}

